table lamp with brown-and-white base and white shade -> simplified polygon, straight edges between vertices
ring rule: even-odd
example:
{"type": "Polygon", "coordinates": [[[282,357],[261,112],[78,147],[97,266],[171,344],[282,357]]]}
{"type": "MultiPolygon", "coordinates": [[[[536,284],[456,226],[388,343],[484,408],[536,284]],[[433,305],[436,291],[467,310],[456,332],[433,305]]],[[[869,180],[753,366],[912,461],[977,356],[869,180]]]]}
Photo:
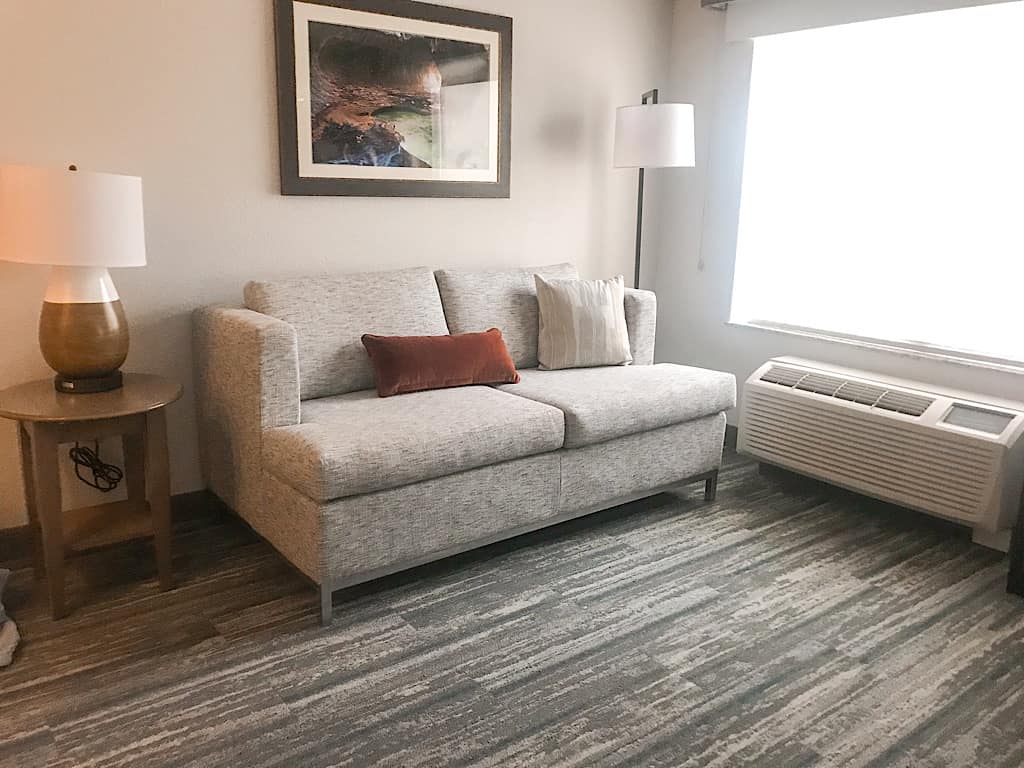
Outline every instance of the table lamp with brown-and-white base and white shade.
{"type": "Polygon", "coordinates": [[[106,268],[145,265],[142,180],[0,165],[0,260],[50,265],[39,348],[56,390],[118,389],[128,322],[106,268]]]}

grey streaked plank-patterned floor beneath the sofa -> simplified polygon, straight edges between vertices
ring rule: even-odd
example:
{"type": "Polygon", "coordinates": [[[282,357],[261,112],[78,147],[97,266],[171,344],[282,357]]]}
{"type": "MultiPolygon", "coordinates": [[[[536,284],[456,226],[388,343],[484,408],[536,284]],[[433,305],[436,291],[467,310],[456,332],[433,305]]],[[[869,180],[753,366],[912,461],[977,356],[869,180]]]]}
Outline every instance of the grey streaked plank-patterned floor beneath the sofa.
{"type": "Polygon", "coordinates": [[[0,766],[1024,765],[1024,600],[931,518],[734,456],[666,495],[338,595],[215,508],[27,567],[0,766]]]}

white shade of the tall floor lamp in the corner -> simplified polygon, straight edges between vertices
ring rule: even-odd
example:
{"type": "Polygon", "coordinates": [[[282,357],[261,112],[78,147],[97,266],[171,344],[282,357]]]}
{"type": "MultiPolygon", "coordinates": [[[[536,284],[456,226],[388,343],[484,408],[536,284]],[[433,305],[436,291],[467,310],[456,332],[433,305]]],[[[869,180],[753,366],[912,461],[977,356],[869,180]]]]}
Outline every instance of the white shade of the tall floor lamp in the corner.
{"type": "Polygon", "coordinates": [[[615,168],[692,168],[693,104],[621,106],[615,168]]]}

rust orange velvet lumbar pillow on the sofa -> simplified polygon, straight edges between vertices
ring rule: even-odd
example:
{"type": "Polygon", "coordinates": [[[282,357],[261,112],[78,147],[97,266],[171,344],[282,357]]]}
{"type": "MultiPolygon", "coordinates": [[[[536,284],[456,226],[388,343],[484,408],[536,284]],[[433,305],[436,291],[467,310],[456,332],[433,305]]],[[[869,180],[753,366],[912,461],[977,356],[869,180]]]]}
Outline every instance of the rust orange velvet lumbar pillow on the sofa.
{"type": "Polygon", "coordinates": [[[377,394],[422,392],[470,384],[518,384],[502,332],[455,336],[374,336],[362,346],[377,377],[377,394]]]}

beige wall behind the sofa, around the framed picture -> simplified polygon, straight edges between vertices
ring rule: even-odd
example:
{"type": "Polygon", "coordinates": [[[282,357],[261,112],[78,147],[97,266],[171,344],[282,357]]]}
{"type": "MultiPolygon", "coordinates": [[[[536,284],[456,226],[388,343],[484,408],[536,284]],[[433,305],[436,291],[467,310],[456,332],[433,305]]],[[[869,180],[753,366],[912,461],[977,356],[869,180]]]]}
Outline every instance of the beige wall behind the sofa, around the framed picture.
{"type": "MultiPolygon", "coordinates": [[[[187,389],[171,411],[175,492],[202,485],[189,312],[238,302],[248,279],[566,259],[630,273],[635,175],[611,168],[613,109],[665,79],[671,0],[450,4],[515,19],[511,200],[281,197],[270,0],[0,0],[0,162],[143,178],[150,265],[114,276],[126,368],[187,389]]],[[[0,386],[48,375],[45,280],[0,263],[0,386]]],[[[18,466],[3,422],[0,527],[25,519],[18,466]]]]}

